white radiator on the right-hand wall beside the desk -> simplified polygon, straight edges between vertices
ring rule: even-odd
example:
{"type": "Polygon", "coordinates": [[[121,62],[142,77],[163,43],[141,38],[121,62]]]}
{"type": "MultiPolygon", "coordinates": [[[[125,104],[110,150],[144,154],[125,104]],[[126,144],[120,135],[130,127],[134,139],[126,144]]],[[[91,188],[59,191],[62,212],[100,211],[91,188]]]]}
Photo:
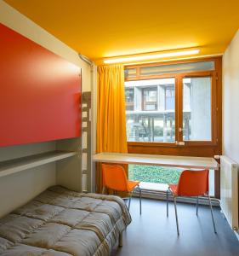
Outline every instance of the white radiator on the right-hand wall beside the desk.
{"type": "Polygon", "coordinates": [[[238,231],[238,166],[225,155],[220,156],[220,197],[225,218],[238,231]]]}

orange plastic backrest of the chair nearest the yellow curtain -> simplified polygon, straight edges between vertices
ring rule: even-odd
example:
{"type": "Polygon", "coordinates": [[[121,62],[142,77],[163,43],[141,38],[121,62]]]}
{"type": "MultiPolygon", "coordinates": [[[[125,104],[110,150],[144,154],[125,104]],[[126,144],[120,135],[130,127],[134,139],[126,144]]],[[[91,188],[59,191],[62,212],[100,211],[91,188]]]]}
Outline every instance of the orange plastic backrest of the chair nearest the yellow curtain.
{"type": "Polygon", "coordinates": [[[103,185],[108,189],[128,191],[127,177],[122,166],[102,164],[103,185]]]}

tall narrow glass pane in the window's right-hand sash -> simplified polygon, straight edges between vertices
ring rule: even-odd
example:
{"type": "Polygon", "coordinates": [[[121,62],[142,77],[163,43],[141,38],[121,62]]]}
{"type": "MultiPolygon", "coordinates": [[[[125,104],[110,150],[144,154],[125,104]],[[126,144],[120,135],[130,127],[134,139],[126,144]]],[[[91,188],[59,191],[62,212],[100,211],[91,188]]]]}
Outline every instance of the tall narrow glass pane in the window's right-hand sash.
{"type": "Polygon", "coordinates": [[[183,79],[183,137],[211,141],[211,78],[183,79]]]}

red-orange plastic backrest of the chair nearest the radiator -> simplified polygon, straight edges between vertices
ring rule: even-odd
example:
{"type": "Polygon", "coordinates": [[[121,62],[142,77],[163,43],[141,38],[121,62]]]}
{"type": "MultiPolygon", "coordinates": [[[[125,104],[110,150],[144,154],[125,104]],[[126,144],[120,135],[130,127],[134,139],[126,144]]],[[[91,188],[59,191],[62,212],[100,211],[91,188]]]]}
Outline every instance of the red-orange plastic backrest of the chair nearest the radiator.
{"type": "Polygon", "coordinates": [[[179,177],[177,194],[181,196],[199,196],[208,194],[208,170],[185,170],[179,177]]]}

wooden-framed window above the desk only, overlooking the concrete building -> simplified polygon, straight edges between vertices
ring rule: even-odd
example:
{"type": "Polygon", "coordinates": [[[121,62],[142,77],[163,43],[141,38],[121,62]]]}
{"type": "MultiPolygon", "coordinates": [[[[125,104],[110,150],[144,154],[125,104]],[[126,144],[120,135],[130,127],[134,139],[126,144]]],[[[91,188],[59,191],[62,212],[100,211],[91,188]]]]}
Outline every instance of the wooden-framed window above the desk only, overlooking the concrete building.
{"type": "Polygon", "coordinates": [[[135,75],[125,82],[128,142],[216,143],[215,68],[215,61],[126,68],[135,75]]]}

